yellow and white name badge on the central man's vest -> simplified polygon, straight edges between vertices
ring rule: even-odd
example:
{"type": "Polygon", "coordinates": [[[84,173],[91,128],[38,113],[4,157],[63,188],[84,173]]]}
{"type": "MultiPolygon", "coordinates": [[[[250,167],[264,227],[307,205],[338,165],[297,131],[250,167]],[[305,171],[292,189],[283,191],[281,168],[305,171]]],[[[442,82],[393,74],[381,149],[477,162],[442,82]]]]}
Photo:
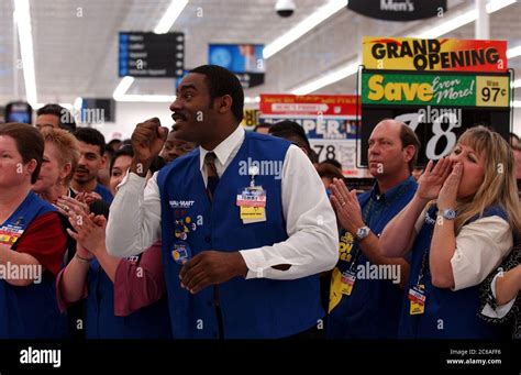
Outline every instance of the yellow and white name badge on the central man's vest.
{"type": "Polygon", "coordinates": [[[244,224],[266,221],[266,190],[262,186],[255,186],[255,175],[257,174],[258,167],[251,167],[250,186],[237,191],[236,205],[244,224]]]}

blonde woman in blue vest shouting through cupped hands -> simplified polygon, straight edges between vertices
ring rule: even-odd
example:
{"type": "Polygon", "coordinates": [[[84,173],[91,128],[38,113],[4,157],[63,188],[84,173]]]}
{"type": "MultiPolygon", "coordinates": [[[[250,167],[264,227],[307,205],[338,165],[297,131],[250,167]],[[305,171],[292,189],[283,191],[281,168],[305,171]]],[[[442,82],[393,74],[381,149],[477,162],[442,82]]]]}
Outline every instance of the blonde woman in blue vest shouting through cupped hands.
{"type": "Polygon", "coordinates": [[[387,256],[412,251],[399,337],[485,339],[479,283],[512,247],[520,225],[513,153],[495,132],[462,134],[448,157],[429,162],[415,196],[386,227],[387,256]]]}

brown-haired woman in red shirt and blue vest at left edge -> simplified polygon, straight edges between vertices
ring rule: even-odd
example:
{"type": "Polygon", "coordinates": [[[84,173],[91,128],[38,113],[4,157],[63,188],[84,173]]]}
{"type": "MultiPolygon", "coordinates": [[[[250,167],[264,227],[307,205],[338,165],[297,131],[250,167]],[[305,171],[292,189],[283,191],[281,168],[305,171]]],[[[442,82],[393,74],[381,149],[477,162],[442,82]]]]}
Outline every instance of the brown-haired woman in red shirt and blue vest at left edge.
{"type": "Polygon", "coordinates": [[[36,128],[0,125],[0,339],[66,333],[54,282],[67,234],[56,209],[31,191],[43,152],[36,128]]]}

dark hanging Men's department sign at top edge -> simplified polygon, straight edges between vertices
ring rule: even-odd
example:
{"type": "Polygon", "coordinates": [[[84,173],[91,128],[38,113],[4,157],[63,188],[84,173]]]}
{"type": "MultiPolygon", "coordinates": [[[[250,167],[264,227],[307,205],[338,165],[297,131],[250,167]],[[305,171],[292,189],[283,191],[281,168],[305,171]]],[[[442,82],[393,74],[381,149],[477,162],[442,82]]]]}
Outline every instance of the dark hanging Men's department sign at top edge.
{"type": "Polygon", "coordinates": [[[373,19],[413,21],[442,16],[446,0],[350,0],[347,9],[373,19]]]}

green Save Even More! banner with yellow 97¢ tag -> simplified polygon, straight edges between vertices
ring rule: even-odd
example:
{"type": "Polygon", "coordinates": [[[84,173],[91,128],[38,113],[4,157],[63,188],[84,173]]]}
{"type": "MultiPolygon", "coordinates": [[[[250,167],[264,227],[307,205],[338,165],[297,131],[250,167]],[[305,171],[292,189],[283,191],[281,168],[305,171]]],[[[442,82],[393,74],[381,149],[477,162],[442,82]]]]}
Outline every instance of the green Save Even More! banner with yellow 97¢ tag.
{"type": "Polygon", "coordinates": [[[362,104],[509,107],[510,77],[362,74],[362,104]]]}

